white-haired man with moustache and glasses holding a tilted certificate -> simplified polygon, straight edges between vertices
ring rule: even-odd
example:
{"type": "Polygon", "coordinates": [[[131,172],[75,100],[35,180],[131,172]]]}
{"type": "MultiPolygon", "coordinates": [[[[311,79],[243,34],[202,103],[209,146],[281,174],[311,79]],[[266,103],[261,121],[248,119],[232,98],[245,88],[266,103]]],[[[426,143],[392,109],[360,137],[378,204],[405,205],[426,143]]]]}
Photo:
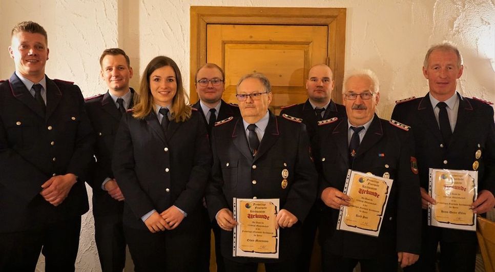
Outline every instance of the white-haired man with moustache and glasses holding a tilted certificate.
{"type": "Polygon", "coordinates": [[[405,125],[375,114],[380,94],[376,75],[365,70],[344,81],[347,118],[319,123],[322,175],[319,196],[325,203],[319,225],[323,271],[396,272],[418,260],[421,198],[417,169],[411,166],[414,145],[405,125]],[[341,205],[352,205],[343,193],[347,171],[393,179],[378,237],[337,230],[341,205]]]}

